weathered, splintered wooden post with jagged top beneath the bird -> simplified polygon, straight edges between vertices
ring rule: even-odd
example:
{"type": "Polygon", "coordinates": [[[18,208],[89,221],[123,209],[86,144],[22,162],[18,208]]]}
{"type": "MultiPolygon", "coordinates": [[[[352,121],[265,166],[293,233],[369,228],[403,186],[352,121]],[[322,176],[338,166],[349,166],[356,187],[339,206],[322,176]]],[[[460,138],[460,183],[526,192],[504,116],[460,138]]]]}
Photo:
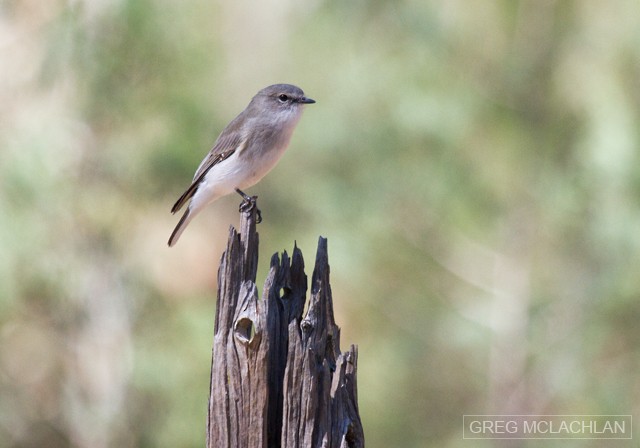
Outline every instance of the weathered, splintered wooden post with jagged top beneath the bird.
{"type": "Polygon", "coordinates": [[[327,240],[320,238],[307,293],[302,252],[271,257],[262,299],[256,208],[231,228],[218,270],[208,448],[364,447],[358,350],[340,352],[327,240]]]}

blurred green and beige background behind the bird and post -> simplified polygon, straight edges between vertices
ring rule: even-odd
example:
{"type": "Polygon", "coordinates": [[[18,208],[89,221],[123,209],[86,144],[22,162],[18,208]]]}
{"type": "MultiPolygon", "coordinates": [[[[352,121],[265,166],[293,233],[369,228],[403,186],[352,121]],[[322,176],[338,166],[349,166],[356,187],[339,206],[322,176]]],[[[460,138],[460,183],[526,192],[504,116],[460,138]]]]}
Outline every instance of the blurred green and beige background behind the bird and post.
{"type": "Polygon", "coordinates": [[[1,0],[0,446],[204,445],[239,198],[172,249],[169,210],[276,82],[317,104],[249,190],[259,281],[329,239],[367,446],[640,415],[637,1],[1,0]]]}

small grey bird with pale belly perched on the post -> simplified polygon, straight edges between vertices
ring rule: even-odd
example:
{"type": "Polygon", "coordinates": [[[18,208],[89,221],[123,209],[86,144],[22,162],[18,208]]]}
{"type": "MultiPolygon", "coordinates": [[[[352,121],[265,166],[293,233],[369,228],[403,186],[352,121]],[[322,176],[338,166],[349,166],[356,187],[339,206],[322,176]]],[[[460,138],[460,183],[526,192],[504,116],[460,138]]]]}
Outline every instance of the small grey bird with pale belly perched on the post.
{"type": "Polygon", "coordinates": [[[315,103],[291,84],[274,84],[259,91],[240,115],[218,136],[200,163],[193,182],[171,209],[175,213],[189,202],[169,238],[173,246],[187,224],[208,204],[233,191],[245,203],[251,200],[243,188],[255,185],[276,165],[305,104],[315,103]]]}

